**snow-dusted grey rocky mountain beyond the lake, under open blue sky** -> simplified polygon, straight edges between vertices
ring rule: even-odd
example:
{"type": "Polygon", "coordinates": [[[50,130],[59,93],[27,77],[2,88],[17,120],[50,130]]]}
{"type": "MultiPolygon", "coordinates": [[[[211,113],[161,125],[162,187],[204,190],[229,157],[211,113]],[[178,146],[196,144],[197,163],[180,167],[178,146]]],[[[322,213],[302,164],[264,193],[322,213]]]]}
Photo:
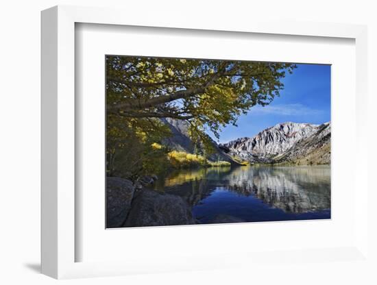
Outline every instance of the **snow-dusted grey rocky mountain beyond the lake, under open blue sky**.
{"type": "Polygon", "coordinates": [[[330,127],[330,122],[279,123],[219,148],[250,163],[330,164],[330,127]]]}

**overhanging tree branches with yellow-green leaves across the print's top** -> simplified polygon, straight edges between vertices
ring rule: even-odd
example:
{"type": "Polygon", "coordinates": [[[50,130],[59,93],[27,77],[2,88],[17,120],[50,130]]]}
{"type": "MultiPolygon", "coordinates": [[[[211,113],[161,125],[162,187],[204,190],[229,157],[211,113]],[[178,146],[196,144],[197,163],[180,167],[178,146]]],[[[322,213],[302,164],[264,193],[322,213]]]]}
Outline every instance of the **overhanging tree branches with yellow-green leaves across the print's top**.
{"type": "MultiPolygon", "coordinates": [[[[252,106],[280,94],[295,64],[177,58],[106,57],[107,112],[125,118],[188,121],[191,135],[217,138],[252,106]]],[[[205,141],[204,141],[205,143],[205,141]]]]}

